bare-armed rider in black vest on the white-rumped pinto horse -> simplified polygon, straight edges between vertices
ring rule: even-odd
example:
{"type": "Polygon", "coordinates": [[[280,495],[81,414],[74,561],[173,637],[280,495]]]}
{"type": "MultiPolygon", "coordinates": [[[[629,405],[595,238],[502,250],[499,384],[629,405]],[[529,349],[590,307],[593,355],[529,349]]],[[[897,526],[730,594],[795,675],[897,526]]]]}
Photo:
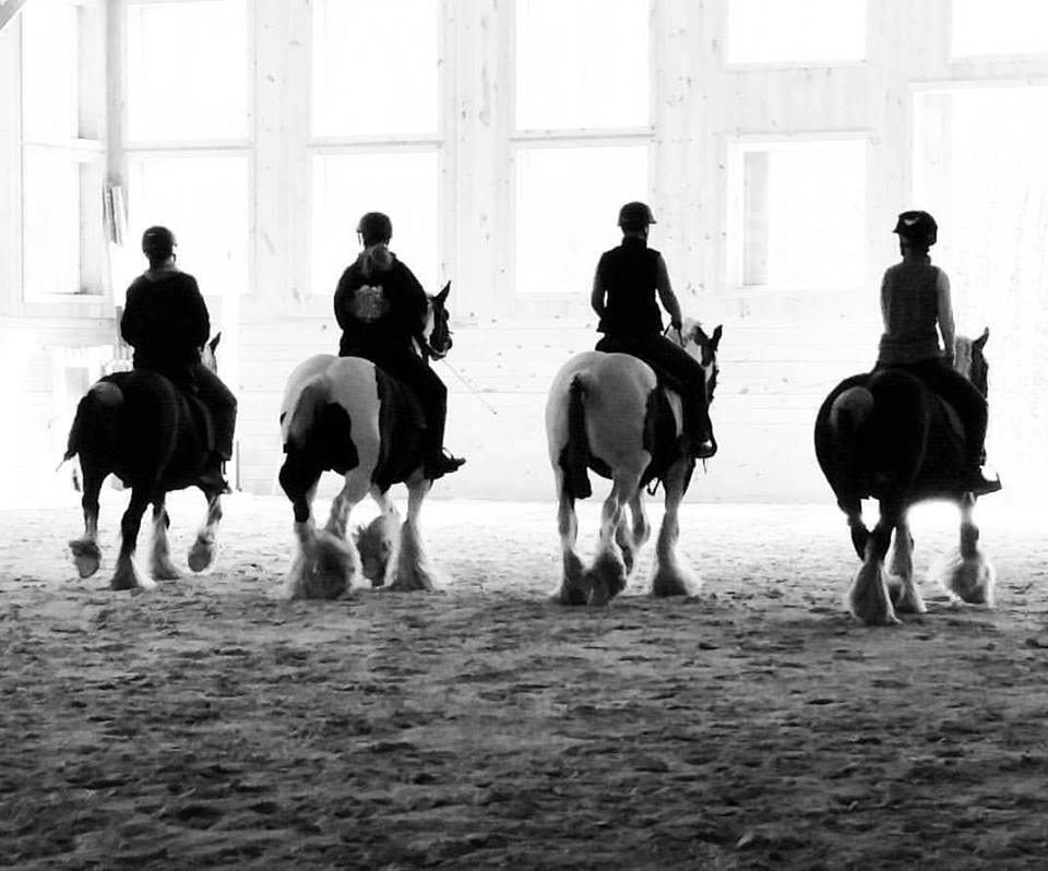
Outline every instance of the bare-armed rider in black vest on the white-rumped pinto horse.
{"type": "Polygon", "coordinates": [[[666,261],[658,251],[647,247],[647,228],[654,223],[652,210],[645,203],[627,203],[619,210],[622,243],[600,255],[593,278],[591,305],[600,318],[597,331],[604,333],[596,349],[631,354],[669,378],[683,405],[681,450],[704,458],[717,451],[710,421],[705,372],[694,357],[663,335],[656,297],[678,333],[681,315],[666,261]]]}

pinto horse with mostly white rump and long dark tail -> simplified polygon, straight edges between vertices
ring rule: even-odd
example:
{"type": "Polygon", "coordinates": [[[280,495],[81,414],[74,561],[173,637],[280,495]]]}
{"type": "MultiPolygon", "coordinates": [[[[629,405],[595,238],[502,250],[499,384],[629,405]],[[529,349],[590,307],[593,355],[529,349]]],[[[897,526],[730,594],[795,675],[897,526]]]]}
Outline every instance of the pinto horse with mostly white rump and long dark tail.
{"type": "MultiPolygon", "coordinates": [[[[713,402],[717,384],[720,335],[720,326],[707,336],[691,320],[681,330],[684,348],[705,370],[707,402],[713,402]]],[[[678,446],[681,432],[680,395],[663,385],[643,360],[628,354],[583,351],[561,367],[546,403],[547,445],[563,557],[563,574],[553,601],[603,606],[624,589],[639,551],[651,535],[644,488],[658,481],[665,490],[666,510],[655,548],[652,595],[698,593],[699,582],[676,554],[678,510],[695,466],[678,446]],[[575,500],[592,494],[591,469],[611,479],[611,492],[602,508],[596,557],[586,569],[575,552],[575,500]]]]}

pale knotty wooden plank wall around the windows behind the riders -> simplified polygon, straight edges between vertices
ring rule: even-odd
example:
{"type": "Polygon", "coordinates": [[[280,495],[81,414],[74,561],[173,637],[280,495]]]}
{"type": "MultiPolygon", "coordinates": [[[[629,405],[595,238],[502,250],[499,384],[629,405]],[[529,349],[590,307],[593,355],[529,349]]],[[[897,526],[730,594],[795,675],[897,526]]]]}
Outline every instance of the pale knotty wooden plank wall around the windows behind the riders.
{"type": "MultiPolygon", "coordinates": [[[[723,57],[726,0],[654,0],[654,243],[666,254],[686,311],[725,327],[713,407],[722,452],[698,479],[693,499],[827,499],[812,456],[811,423],[830,386],[868,367],[876,353],[877,287],[895,255],[890,230],[895,214],[910,206],[914,88],[1048,75],[1043,57],[952,61],[950,5],[871,0],[862,62],[733,68],[723,57]],[[728,286],[731,145],[819,135],[868,143],[865,289],[770,294],[728,286]]],[[[309,74],[309,3],[255,0],[254,10],[254,287],[239,313],[234,368],[241,404],[239,482],[272,492],[283,380],[306,356],[333,350],[337,336],[330,299],[306,291],[308,107],[298,95],[309,74]]],[[[498,0],[445,3],[443,266],[454,281],[457,315],[449,363],[461,379],[439,371],[451,391],[448,444],[469,463],[438,491],[545,499],[551,496],[545,391],[556,368],[595,336],[584,290],[543,310],[509,289],[510,17],[512,4],[498,0]]],[[[16,71],[10,31],[0,35],[0,91],[11,87],[4,83],[16,71]]],[[[3,96],[0,107],[10,106],[3,96]]],[[[0,108],[4,158],[16,155],[12,124],[10,109],[0,108]]],[[[110,166],[118,169],[119,159],[110,166]]],[[[11,255],[14,204],[12,172],[0,169],[0,270],[11,255]]],[[[9,271],[0,274],[12,281],[9,271]]],[[[4,331],[24,336],[36,330],[39,347],[93,344],[111,333],[102,310],[84,309],[73,335],[68,312],[16,310],[10,286],[0,297],[8,300],[0,311],[4,331]]],[[[26,395],[46,392],[44,382],[32,384],[26,395]]]]}

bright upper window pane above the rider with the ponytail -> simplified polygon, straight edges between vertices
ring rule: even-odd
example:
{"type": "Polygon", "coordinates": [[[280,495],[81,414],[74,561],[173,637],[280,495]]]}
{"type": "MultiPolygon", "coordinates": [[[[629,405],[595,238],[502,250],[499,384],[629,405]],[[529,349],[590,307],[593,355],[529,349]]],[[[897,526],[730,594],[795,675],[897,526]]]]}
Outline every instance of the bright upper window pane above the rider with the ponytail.
{"type": "Polygon", "coordinates": [[[438,129],[440,4],[314,0],[313,133],[438,129]]]}

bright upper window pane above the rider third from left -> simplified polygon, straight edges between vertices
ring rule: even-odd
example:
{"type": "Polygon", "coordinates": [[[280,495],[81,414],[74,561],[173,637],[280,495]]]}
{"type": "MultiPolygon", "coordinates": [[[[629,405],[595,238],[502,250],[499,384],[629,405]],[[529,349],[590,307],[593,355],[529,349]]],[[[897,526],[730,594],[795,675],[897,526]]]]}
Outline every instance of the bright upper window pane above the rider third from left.
{"type": "Polygon", "coordinates": [[[519,0],[519,130],[646,127],[647,0],[519,0]]]}

